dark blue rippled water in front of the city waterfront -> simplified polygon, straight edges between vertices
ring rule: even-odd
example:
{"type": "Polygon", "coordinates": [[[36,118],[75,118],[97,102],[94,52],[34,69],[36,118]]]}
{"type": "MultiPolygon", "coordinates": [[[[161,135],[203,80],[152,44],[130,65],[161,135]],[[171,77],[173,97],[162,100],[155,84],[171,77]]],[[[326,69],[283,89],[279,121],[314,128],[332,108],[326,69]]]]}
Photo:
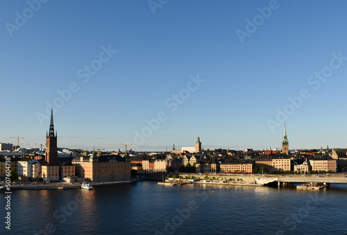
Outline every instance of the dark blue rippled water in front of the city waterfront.
{"type": "Polygon", "coordinates": [[[339,184],[296,191],[145,181],[92,191],[12,191],[10,231],[0,196],[0,234],[347,233],[347,186],[339,184]]]}

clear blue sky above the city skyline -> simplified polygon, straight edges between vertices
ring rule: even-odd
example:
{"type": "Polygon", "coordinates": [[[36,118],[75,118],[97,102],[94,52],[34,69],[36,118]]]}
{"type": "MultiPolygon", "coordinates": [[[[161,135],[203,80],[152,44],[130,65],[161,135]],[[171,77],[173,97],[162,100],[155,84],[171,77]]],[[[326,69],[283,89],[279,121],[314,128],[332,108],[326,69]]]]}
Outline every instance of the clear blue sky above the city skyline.
{"type": "Polygon", "coordinates": [[[346,1],[0,1],[0,142],[347,148],[346,1]]]}

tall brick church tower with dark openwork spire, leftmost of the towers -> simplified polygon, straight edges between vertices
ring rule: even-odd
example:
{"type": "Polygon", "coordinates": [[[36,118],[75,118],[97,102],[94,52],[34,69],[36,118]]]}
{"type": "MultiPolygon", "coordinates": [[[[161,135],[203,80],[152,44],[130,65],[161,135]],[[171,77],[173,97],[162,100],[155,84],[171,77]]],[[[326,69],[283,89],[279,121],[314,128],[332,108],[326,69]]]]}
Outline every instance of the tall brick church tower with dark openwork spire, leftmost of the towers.
{"type": "Polygon", "coordinates": [[[53,107],[51,110],[49,133],[46,133],[46,155],[44,160],[52,165],[58,165],[57,132],[54,134],[53,107]]]}

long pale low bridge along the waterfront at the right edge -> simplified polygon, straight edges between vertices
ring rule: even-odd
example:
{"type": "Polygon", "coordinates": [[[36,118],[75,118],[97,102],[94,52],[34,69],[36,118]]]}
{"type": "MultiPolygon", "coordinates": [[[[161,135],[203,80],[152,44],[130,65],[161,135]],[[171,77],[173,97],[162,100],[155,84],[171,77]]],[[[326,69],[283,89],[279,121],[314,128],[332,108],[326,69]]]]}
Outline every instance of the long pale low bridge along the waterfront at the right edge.
{"type": "Polygon", "coordinates": [[[258,177],[255,178],[255,182],[257,184],[270,184],[273,182],[278,182],[280,184],[288,184],[288,183],[326,183],[326,184],[347,184],[347,177],[343,176],[328,176],[328,175],[285,175],[278,177],[258,177]]]}

